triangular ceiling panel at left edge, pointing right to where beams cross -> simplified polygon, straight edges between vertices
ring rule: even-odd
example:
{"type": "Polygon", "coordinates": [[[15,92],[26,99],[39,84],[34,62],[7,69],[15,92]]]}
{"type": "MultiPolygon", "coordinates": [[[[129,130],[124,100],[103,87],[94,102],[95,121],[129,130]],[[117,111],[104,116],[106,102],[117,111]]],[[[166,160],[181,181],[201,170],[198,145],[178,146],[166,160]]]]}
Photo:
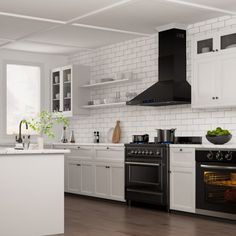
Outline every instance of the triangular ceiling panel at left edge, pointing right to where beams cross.
{"type": "Polygon", "coordinates": [[[54,25],[48,22],[0,16],[0,38],[16,39],[54,25]]]}

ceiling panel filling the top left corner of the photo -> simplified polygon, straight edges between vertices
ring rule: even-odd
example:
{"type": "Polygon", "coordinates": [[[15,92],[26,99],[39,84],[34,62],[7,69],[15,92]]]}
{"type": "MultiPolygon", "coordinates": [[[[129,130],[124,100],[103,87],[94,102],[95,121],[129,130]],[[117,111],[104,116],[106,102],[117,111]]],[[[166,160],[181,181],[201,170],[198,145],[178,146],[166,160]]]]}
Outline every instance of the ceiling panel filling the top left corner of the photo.
{"type": "Polygon", "coordinates": [[[120,0],[0,0],[0,11],[67,21],[120,0]]]}

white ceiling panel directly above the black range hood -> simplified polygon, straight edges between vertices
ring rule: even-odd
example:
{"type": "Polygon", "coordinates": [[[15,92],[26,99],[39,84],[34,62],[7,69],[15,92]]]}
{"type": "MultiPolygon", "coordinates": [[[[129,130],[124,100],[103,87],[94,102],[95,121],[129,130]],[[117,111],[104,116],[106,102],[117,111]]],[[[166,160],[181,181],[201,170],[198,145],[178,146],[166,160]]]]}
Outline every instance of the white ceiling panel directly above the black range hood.
{"type": "Polygon", "coordinates": [[[158,26],[173,22],[191,24],[223,13],[193,8],[163,0],[139,0],[79,20],[77,23],[154,33],[158,26]]]}

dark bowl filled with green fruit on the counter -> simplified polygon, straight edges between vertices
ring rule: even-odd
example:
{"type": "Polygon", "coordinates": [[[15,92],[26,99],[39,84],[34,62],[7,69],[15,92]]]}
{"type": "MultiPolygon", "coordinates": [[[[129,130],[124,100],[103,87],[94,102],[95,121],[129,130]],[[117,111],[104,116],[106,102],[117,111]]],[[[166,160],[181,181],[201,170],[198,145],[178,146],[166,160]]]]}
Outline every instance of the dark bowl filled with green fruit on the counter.
{"type": "Polygon", "coordinates": [[[232,138],[232,134],[227,129],[217,127],[214,130],[208,130],[206,139],[215,145],[222,145],[228,143],[232,138]]]}

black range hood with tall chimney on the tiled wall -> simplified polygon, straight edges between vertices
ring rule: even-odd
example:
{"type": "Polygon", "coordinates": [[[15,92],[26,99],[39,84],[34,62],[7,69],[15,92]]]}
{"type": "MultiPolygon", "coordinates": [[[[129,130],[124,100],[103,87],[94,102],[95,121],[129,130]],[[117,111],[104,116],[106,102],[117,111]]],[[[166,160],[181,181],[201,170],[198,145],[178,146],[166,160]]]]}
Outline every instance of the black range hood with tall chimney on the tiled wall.
{"type": "Polygon", "coordinates": [[[127,105],[167,106],[191,103],[186,81],[186,31],[159,32],[159,81],[128,101],[127,105]]]}

